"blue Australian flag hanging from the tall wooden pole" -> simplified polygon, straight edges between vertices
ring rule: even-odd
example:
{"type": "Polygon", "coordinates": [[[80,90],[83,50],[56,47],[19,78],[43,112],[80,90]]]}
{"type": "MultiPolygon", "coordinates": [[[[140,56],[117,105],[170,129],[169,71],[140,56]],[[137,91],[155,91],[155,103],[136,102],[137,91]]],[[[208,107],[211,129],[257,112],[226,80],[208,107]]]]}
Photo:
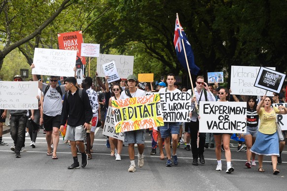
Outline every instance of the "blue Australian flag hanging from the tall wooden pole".
{"type": "Polygon", "coordinates": [[[185,35],[185,32],[183,31],[183,28],[181,27],[179,23],[179,17],[177,15],[174,44],[175,44],[177,56],[179,59],[179,63],[183,66],[185,70],[187,70],[187,64],[185,61],[184,50],[182,47],[181,39],[183,39],[183,42],[184,42],[184,47],[185,47],[185,52],[186,52],[186,57],[187,57],[190,73],[193,75],[197,75],[200,68],[194,63],[194,55],[193,55],[191,45],[188,42],[187,36],[185,35]]]}

